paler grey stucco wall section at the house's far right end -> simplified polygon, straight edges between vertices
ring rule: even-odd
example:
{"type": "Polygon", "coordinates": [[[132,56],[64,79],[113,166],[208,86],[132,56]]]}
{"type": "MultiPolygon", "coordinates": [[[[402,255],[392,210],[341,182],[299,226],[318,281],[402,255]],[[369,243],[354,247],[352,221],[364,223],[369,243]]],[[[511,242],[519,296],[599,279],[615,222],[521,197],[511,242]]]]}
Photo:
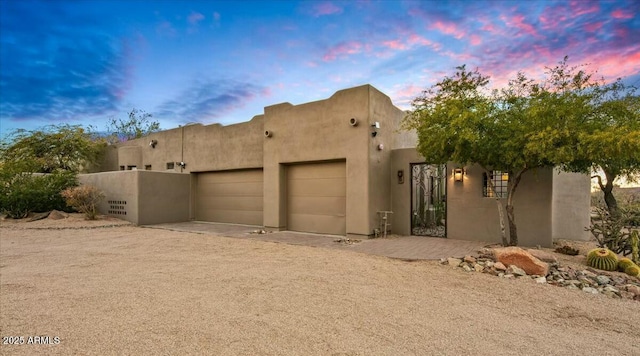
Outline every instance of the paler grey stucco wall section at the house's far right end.
{"type": "Polygon", "coordinates": [[[587,241],[591,234],[585,230],[590,224],[591,179],[587,174],[564,173],[553,175],[553,238],[587,241]]]}

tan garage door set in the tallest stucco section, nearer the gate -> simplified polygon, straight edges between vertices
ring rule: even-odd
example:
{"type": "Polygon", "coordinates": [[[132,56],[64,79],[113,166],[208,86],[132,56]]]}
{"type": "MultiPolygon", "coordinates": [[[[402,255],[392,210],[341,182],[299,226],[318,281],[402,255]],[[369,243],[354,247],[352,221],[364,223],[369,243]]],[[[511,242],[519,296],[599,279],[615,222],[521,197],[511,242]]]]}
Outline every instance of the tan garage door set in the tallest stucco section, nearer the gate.
{"type": "Polygon", "coordinates": [[[287,168],[287,229],[346,234],[345,162],[287,168]]]}

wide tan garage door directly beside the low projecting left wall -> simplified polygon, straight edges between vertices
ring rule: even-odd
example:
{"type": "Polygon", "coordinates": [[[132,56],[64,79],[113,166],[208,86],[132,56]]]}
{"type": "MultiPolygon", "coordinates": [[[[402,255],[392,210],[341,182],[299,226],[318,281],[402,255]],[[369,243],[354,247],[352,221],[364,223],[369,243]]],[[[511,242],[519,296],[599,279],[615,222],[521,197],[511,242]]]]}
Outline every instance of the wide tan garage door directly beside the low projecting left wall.
{"type": "Polygon", "coordinates": [[[262,170],[198,173],[196,220],[262,225],[262,170]]]}

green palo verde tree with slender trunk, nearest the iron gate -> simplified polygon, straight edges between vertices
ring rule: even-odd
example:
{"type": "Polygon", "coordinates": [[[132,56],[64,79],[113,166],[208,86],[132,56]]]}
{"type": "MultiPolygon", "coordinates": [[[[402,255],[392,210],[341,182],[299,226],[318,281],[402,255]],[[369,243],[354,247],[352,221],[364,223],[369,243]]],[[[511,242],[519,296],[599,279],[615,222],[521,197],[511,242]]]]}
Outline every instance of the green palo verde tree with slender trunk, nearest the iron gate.
{"type": "MultiPolygon", "coordinates": [[[[505,246],[518,244],[514,201],[522,176],[576,158],[565,137],[589,110],[588,100],[573,93],[573,84],[554,83],[557,68],[541,82],[519,73],[504,88],[489,90],[489,77],[457,67],[413,101],[404,121],[405,128],[416,130],[418,151],[428,162],[476,163],[488,177],[491,170],[508,173],[506,206],[495,197],[505,246]]],[[[580,82],[581,75],[573,79],[580,82]]],[[[493,189],[491,179],[488,183],[493,189]]]]}

